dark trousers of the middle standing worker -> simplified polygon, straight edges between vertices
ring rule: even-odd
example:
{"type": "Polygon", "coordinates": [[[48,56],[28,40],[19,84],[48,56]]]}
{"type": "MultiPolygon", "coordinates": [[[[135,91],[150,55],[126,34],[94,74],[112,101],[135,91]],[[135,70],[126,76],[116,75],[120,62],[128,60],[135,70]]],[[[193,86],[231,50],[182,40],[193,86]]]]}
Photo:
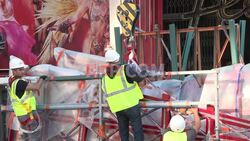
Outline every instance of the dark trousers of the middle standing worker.
{"type": "Polygon", "coordinates": [[[143,129],[141,121],[141,107],[136,105],[116,113],[119,132],[122,141],[129,141],[129,122],[134,133],[134,141],[143,141],[143,129]]]}

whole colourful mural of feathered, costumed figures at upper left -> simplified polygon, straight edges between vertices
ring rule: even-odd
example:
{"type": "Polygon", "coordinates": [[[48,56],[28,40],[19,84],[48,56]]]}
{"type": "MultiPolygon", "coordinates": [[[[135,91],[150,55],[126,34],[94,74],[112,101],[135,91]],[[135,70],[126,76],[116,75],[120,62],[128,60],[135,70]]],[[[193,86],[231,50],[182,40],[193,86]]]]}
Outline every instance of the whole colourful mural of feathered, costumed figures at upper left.
{"type": "Polygon", "coordinates": [[[102,56],[109,42],[108,0],[0,0],[0,69],[9,55],[55,64],[53,49],[102,56]]]}

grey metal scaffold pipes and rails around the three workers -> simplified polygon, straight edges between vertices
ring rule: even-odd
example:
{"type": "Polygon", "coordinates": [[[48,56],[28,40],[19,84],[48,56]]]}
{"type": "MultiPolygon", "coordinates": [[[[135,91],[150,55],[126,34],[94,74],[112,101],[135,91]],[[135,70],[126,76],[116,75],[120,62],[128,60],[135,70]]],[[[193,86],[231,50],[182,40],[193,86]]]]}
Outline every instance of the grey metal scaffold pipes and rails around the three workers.
{"type": "MultiPolygon", "coordinates": [[[[211,74],[211,73],[216,73],[217,78],[218,78],[218,71],[217,70],[205,70],[205,71],[181,71],[181,72],[165,72],[164,75],[187,75],[187,74],[211,74]]],[[[102,76],[63,76],[63,77],[50,77],[48,81],[76,81],[76,80],[93,80],[93,79],[98,79],[100,80],[102,76]]],[[[218,87],[218,79],[214,80],[216,88],[219,89],[218,87]]],[[[98,83],[99,86],[101,86],[101,81],[98,83]]],[[[219,94],[216,94],[216,101],[215,101],[215,133],[216,133],[216,139],[219,140],[220,136],[220,122],[219,122],[219,94]]],[[[114,132],[106,135],[105,133],[105,122],[104,122],[104,117],[103,113],[106,108],[108,108],[108,105],[103,103],[103,94],[101,91],[101,87],[98,87],[98,103],[97,104],[85,104],[85,103],[80,103],[80,104],[41,104],[37,105],[38,110],[80,110],[80,109],[88,109],[88,108],[95,108],[98,109],[99,113],[99,119],[96,119],[95,121],[98,121],[98,132],[95,132],[96,135],[99,137],[99,140],[102,141],[104,139],[108,139],[112,135],[114,135],[116,132],[118,132],[118,129],[115,130],[114,132]]],[[[154,119],[149,115],[150,113],[156,111],[159,108],[180,108],[180,107],[197,107],[199,105],[199,102],[191,102],[191,101],[163,101],[159,99],[160,101],[141,101],[141,107],[144,108],[153,108],[152,110],[149,110],[147,112],[142,111],[142,117],[146,117],[147,119],[151,120],[152,123],[154,123],[156,128],[152,129],[157,129],[159,132],[158,135],[152,139],[155,140],[158,137],[161,137],[161,135],[164,133],[165,128],[168,125],[168,122],[170,120],[169,115],[166,116],[166,110],[165,113],[162,113],[162,125],[159,125],[157,122],[154,121],[154,119]],[[165,115],[164,115],[165,114],[165,115]],[[164,125],[165,124],[165,125],[164,125]]],[[[167,98],[167,100],[170,100],[167,98]]],[[[10,105],[1,105],[0,108],[1,112],[11,112],[12,108],[10,105]]],[[[168,111],[169,112],[169,111],[168,111]]],[[[169,114],[169,113],[168,113],[169,114]]],[[[69,136],[73,130],[76,130],[79,126],[79,124],[76,124],[74,128],[72,128],[71,131],[69,131],[67,134],[64,134],[64,138],[69,136]]],[[[150,128],[149,126],[147,128],[150,128]]],[[[85,129],[86,130],[86,129],[85,129]]],[[[86,131],[85,131],[86,133],[86,131]]],[[[86,138],[86,135],[82,137],[82,140],[86,138]]]]}

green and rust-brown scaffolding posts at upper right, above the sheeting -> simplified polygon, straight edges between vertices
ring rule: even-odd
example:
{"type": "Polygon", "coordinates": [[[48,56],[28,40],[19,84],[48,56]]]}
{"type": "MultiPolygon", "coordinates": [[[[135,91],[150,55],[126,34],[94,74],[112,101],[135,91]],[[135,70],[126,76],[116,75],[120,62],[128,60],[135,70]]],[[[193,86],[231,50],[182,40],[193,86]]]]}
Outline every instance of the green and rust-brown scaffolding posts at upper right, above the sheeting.
{"type": "Polygon", "coordinates": [[[222,63],[223,55],[225,56],[230,43],[232,64],[242,62],[244,59],[246,21],[241,20],[239,23],[235,23],[234,20],[228,20],[228,23],[228,25],[183,29],[176,29],[175,24],[170,24],[169,30],[160,30],[158,25],[155,25],[151,32],[138,31],[135,33],[138,61],[147,64],[165,64],[171,68],[171,71],[186,71],[188,69],[210,69],[206,66],[208,63],[203,65],[203,61],[212,60],[212,68],[217,68],[225,64],[225,62],[222,63]],[[213,38],[213,46],[211,46],[213,51],[209,55],[212,57],[211,59],[202,59],[202,48],[205,45],[201,41],[201,35],[208,32],[213,34],[211,36],[213,38]],[[223,34],[224,36],[222,36],[223,34]],[[166,37],[169,39],[169,44],[165,40],[166,37]],[[163,52],[166,52],[165,58],[168,59],[164,58],[163,52]],[[193,58],[189,59],[190,54],[193,55],[193,58]],[[190,62],[193,65],[192,68],[188,67],[190,62]]]}

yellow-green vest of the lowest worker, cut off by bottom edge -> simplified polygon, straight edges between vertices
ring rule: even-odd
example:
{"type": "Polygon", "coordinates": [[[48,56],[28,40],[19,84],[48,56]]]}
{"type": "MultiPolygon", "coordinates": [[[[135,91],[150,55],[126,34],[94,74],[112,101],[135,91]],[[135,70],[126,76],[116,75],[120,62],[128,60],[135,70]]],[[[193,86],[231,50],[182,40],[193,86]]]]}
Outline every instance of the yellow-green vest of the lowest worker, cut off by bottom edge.
{"type": "Polygon", "coordinates": [[[186,132],[173,132],[168,131],[163,136],[163,141],[187,141],[187,134],[186,132]]]}

